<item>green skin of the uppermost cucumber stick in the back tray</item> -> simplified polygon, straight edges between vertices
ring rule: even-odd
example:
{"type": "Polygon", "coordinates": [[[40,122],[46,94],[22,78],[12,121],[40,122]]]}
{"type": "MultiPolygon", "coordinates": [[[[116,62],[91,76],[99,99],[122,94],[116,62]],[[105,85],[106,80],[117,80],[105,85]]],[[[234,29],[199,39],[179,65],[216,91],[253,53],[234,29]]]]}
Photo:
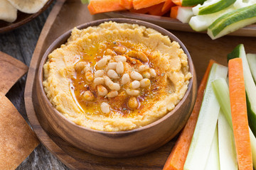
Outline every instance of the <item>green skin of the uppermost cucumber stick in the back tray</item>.
{"type": "Polygon", "coordinates": [[[228,8],[228,6],[234,4],[235,1],[236,0],[221,0],[221,1],[218,1],[216,4],[211,4],[210,6],[208,6],[208,8],[201,7],[201,8],[199,8],[198,15],[206,15],[206,14],[221,11],[225,8],[228,8]],[[223,3],[225,5],[221,6],[221,4],[223,4],[223,3]]]}

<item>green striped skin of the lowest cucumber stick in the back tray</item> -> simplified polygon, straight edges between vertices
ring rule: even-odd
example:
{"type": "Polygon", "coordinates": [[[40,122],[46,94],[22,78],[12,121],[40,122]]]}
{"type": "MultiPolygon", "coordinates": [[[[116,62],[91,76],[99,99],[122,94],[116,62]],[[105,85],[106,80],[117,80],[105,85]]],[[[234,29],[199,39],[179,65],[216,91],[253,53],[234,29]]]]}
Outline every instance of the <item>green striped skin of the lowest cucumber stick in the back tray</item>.
{"type": "Polygon", "coordinates": [[[256,17],[256,4],[251,6],[246,6],[244,8],[238,8],[235,11],[226,13],[223,16],[220,16],[216,21],[214,21],[208,29],[210,29],[215,37],[227,26],[242,21],[247,18],[256,17]],[[242,13],[242,14],[241,14],[242,13]]]}

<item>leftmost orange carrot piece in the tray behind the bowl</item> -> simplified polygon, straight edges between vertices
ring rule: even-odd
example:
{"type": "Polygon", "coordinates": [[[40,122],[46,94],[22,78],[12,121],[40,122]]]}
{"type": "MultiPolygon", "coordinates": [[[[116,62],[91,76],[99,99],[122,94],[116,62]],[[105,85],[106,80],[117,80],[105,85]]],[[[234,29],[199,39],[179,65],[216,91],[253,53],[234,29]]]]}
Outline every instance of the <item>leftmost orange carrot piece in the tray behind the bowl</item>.
{"type": "Polygon", "coordinates": [[[87,7],[92,15],[126,9],[119,4],[119,0],[90,0],[90,4],[87,7]]]}

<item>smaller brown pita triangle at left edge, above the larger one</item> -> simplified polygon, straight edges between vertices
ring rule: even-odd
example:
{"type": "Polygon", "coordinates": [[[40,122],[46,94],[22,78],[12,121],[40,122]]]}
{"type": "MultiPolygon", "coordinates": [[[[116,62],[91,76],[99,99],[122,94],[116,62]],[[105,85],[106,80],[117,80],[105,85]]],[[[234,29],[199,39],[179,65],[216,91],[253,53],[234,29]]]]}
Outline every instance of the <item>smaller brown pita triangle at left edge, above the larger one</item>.
{"type": "Polygon", "coordinates": [[[0,92],[6,94],[27,71],[28,67],[23,62],[0,52],[0,92]]]}

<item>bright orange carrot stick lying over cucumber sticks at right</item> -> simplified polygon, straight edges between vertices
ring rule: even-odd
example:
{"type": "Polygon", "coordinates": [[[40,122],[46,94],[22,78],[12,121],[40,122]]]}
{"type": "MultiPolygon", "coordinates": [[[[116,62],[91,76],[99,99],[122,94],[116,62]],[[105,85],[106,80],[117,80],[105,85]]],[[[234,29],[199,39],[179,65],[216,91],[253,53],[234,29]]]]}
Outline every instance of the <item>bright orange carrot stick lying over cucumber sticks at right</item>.
{"type": "Polygon", "coordinates": [[[228,73],[235,149],[238,155],[238,169],[252,170],[252,151],[241,58],[235,58],[228,62],[228,73]]]}

